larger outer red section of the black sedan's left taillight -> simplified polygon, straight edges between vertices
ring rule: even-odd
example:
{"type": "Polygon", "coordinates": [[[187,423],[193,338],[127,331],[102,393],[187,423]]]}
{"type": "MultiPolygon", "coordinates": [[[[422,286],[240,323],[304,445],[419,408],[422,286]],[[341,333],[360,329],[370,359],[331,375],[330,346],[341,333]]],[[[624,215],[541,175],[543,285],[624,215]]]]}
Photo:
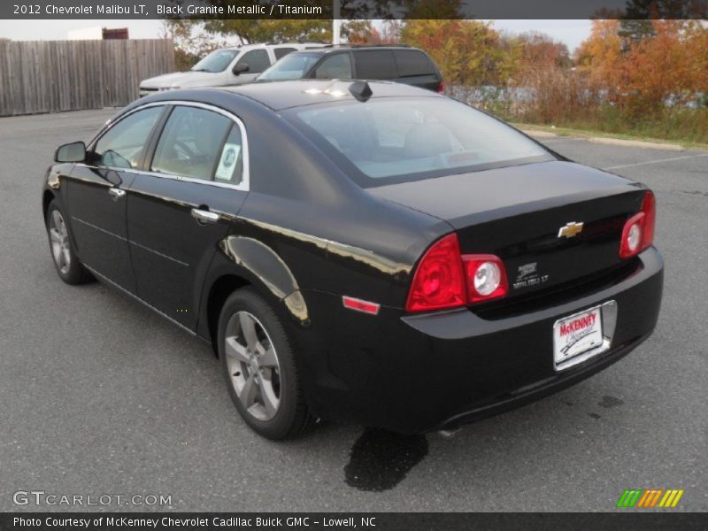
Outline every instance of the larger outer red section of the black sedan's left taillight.
{"type": "Polygon", "coordinates": [[[454,308],[465,303],[465,278],[458,236],[448,235],[435,242],[421,258],[405,309],[408,312],[423,312],[454,308]]]}

